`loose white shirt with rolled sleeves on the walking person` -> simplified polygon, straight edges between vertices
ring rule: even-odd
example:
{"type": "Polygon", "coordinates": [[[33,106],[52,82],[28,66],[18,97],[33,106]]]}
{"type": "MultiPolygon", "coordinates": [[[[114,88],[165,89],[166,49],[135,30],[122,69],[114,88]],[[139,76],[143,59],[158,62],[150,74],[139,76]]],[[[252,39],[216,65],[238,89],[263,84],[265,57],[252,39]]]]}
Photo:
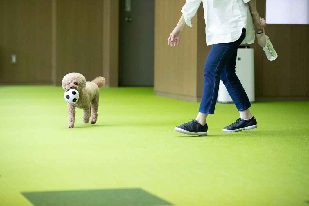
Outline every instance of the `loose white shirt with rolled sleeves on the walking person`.
{"type": "Polygon", "coordinates": [[[241,44],[254,43],[255,32],[248,2],[250,0],[187,0],[181,12],[186,24],[192,27],[191,18],[203,2],[207,45],[229,43],[239,39],[243,28],[246,38],[241,44]]]}

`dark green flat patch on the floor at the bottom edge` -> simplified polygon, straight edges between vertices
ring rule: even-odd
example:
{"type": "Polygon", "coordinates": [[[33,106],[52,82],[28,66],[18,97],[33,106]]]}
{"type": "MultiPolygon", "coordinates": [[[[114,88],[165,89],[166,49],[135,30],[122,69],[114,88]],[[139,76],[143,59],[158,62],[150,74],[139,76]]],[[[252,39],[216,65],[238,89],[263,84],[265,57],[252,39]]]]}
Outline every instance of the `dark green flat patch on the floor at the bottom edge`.
{"type": "Polygon", "coordinates": [[[23,192],[35,206],[156,206],[170,203],[139,189],[23,192]]]}

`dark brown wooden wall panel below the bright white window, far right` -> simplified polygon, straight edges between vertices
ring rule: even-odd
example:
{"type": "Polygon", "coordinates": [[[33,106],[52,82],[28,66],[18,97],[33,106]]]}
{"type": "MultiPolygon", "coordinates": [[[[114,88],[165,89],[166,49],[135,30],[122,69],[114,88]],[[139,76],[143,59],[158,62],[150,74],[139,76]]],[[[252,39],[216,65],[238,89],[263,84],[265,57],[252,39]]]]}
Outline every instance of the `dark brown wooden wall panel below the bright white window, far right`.
{"type": "Polygon", "coordinates": [[[278,58],[263,56],[263,97],[308,97],[309,25],[270,24],[265,34],[278,58]]]}

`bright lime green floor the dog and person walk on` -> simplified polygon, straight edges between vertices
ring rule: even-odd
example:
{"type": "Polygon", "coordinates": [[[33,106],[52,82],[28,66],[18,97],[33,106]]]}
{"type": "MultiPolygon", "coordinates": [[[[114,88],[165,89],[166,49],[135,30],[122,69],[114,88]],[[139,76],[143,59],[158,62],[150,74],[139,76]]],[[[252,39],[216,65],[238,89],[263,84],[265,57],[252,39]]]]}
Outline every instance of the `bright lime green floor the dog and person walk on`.
{"type": "Polygon", "coordinates": [[[0,87],[1,206],[70,206],[76,194],[93,195],[94,206],[309,205],[309,102],[254,103],[258,128],[237,133],[222,132],[239,118],[235,105],[217,103],[198,137],[174,127],[199,103],[153,88],[101,88],[97,123],[83,124],[76,109],[68,129],[63,93],[0,87]],[[58,202],[40,204],[41,194],[58,202]],[[104,194],[124,199],[101,204],[104,194]],[[147,195],[155,202],[138,202],[147,195]]]}

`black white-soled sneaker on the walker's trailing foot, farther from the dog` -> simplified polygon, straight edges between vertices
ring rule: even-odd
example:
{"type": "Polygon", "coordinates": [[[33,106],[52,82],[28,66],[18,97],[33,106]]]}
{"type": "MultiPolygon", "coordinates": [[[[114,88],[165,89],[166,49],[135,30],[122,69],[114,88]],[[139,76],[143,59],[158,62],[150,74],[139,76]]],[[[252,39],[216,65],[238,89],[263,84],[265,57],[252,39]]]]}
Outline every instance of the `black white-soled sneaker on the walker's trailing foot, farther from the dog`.
{"type": "Polygon", "coordinates": [[[255,117],[252,117],[248,120],[239,118],[233,124],[230,124],[227,127],[224,127],[222,131],[224,132],[237,132],[242,130],[251,130],[257,127],[255,117]]]}

